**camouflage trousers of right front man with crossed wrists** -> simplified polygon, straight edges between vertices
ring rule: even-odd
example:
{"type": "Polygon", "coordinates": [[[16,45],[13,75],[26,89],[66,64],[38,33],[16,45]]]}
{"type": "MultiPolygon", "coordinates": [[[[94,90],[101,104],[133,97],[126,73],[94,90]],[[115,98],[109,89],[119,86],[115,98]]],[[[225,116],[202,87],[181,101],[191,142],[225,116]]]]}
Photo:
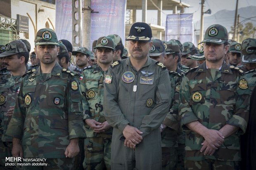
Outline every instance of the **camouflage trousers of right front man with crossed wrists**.
{"type": "Polygon", "coordinates": [[[240,170],[239,161],[218,161],[205,159],[203,161],[186,161],[186,170],[240,170]]]}

